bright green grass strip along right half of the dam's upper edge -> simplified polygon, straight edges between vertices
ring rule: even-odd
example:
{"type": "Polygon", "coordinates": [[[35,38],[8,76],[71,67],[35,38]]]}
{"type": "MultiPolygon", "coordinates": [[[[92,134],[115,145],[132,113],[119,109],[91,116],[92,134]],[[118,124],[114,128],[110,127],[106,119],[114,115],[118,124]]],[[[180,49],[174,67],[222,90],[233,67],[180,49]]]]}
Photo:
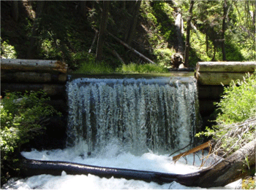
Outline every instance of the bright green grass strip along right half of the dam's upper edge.
{"type": "Polygon", "coordinates": [[[134,73],[134,74],[146,74],[146,73],[167,73],[168,70],[164,66],[154,65],[152,63],[147,63],[143,65],[138,65],[135,63],[130,63],[129,65],[123,64],[121,68],[116,69],[119,73],[134,73]]]}

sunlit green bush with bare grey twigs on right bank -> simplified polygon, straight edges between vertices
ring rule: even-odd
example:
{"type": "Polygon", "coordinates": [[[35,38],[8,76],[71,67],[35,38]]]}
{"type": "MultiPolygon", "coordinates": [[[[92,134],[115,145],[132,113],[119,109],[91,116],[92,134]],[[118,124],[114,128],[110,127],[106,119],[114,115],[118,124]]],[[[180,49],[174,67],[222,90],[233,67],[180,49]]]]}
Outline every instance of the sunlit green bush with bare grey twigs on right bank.
{"type": "Polygon", "coordinates": [[[256,73],[243,80],[231,82],[216,103],[219,111],[217,125],[196,136],[211,136],[215,140],[214,152],[228,155],[255,139],[256,127],[256,73]]]}

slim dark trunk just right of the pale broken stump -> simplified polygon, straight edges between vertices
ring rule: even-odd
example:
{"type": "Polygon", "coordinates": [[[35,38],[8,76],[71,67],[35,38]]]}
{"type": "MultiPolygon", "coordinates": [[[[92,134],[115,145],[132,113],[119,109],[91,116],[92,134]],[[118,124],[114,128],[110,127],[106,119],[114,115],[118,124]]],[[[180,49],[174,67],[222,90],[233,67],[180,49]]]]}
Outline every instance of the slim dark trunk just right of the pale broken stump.
{"type": "Polygon", "coordinates": [[[187,39],[185,45],[185,62],[184,65],[189,66],[189,47],[190,47],[190,29],[191,29],[191,20],[192,20],[192,10],[193,10],[194,0],[190,1],[189,7],[189,18],[187,20],[187,39]]]}

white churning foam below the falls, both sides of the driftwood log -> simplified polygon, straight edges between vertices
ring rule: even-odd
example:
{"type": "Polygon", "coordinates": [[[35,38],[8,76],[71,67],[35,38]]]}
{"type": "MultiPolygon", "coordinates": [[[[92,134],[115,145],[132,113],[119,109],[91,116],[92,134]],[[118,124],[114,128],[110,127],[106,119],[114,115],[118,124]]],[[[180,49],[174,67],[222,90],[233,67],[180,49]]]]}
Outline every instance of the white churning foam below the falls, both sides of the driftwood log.
{"type": "MultiPolygon", "coordinates": [[[[125,153],[118,150],[118,146],[109,145],[102,154],[93,156],[87,155],[87,149],[82,145],[84,152],[80,152],[81,147],[69,149],[56,149],[51,151],[31,151],[23,152],[23,156],[28,159],[52,160],[76,162],[86,165],[97,165],[102,167],[118,167],[132,170],[156,171],[162,173],[193,173],[200,170],[201,163],[195,157],[195,166],[192,166],[193,157],[188,156],[186,165],[185,159],[180,159],[174,163],[172,157],[167,155],[157,155],[151,152],[141,156],[125,153]],[[82,156],[83,154],[83,156],[82,156]]],[[[219,189],[235,189],[237,183],[219,189]]],[[[54,175],[34,175],[29,178],[12,178],[3,189],[201,189],[200,187],[187,187],[179,183],[147,183],[145,181],[127,180],[124,178],[99,178],[96,175],[67,175],[64,171],[59,176],[54,175]]],[[[218,188],[213,188],[218,189],[218,188]]]]}

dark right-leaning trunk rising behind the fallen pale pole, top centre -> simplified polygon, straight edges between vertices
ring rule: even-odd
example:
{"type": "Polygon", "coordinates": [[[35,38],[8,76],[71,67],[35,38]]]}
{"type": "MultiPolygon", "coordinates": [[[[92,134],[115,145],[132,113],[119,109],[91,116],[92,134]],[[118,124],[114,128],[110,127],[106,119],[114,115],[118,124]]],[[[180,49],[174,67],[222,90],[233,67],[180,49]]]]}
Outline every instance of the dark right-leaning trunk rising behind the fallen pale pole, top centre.
{"type": "Polygon", "coordinates": [[[137,21],[138,21],[138,15],[139,15],[139,12],[140,12],[140,4],[141,4],[140,0],[137,0],[136,3],[135,3],[135,10],[133,12],[131,23],[129,25],[129,31],[128,31],[128,37],[127,37],[127,44],[128,45],[131,45],[132,39],[135,36],[135,30],[136,30],[136,25],[137,25],[137,21]]]}

